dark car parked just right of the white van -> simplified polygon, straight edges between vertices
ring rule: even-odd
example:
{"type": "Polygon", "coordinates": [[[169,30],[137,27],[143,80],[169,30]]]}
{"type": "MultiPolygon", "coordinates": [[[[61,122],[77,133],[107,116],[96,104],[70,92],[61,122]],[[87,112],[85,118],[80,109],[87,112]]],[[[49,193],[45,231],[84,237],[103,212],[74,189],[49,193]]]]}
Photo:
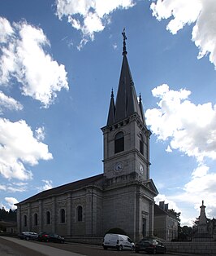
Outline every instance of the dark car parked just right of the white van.
{"type": "Polygon", "coordinates": [[[166,254],[166,246],[154,238],[143,238],[135,245],[136,253],[144,251],[149,254],[166,254]]]}

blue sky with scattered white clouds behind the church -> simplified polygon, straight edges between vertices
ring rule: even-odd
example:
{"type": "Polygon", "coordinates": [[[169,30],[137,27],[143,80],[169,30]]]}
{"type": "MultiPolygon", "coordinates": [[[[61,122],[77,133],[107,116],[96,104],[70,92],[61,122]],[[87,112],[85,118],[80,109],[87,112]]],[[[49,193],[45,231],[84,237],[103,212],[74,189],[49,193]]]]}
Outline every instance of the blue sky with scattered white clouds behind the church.
{"type": "Polygon", "coordinates": [[[155,201],[216,218],[215,24],[215,0],[2,0],[0,207],[103,172],[125,28],[155,201]]]}

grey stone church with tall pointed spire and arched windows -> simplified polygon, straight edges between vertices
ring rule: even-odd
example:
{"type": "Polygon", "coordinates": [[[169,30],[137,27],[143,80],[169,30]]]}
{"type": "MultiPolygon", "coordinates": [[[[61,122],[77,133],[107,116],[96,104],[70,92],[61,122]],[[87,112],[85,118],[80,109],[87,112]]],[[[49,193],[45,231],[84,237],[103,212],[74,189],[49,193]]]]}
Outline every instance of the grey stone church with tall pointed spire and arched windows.
{"type": "Polygon", "coordinates": [[[154,196],[149,175],[149,139],[141,96],[123,61],[116,99],[111,92],[103,134],[103,173],[67,183],[17,203],[18,232],[55,232],[66,237],[102,237],[121,229],[133,241],[153,234],[154,196]]]}

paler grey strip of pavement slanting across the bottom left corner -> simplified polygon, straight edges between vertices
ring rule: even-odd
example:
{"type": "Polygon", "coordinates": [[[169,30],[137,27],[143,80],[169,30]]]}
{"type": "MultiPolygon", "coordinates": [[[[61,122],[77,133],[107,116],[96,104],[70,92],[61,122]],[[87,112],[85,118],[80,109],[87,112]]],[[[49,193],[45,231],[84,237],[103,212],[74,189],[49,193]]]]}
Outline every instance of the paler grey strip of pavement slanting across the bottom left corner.
{"type": "Polygon", "coordinates": [[[83,254],[76,254],[76,253],[71,253],[63,249],[56,249],[50,246],[46,245],[39,245],[36,243],[29,243],[28,241],[24,240],[19,240],[16,238],[12,237],[6,237],[6,236],[1,236],[2,239],[5,239],[7,241],[11,241],[13,243],[16,243],[18,245],[22,245],[27,247],[28,249],[33,249],[37,252],[40,252],[41,254],[45,254],[47,256],[84,256],[83,254]]]}

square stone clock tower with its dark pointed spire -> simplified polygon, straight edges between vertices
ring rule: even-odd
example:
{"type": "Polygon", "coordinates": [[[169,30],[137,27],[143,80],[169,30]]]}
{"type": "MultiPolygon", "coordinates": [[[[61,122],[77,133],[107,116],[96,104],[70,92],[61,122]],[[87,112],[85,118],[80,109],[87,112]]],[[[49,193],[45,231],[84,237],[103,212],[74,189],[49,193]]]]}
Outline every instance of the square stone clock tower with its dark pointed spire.
{"type": "Polygon", "coordinates": [[[137,99],[127,61],[126,35],[123,30],[123,62],[116,100],[111,92],[104,138],[105,184],[149,180],[149,137],[141,95],[137,99]]]}

